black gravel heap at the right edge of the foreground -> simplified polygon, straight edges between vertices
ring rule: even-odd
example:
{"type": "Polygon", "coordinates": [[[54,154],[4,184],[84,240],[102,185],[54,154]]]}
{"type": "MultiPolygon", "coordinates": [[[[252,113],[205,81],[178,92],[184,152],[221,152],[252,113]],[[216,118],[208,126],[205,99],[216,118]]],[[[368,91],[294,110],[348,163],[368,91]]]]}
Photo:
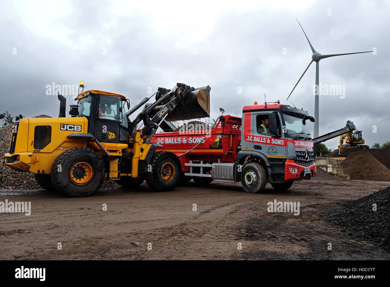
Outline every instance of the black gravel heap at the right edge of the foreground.
{"type": "Polygon", "coordinates": [[[324,219],[348,235],[363,239],[390,251],[390,187],[369,196],[349,201],[324,219]],[[373,204],[377,210],[374,211],[373,204]]]}

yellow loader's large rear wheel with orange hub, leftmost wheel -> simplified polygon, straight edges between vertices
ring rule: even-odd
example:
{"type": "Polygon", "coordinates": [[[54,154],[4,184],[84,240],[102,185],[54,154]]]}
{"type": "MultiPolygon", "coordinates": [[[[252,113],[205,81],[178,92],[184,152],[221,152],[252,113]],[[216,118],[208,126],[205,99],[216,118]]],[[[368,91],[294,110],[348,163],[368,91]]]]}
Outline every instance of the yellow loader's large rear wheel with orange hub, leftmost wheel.
{"type": "Polygon", "coordinates": [[[89,196],[103,183],[105,166],[97,153],[72,148],[58,155],[51,166],[51,182],[58,191],[72,197],[89,196]]]}

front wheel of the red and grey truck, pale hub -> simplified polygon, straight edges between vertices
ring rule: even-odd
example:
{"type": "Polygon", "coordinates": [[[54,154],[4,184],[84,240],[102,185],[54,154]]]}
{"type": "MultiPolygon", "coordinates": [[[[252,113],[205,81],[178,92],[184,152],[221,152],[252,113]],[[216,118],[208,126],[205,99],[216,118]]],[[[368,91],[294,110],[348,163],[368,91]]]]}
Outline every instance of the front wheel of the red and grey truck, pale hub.
{"type": "Polygon", "coordinates": [[[259,193],[267,184],[265,169],[257,162],[245,164],[241,172],[241,185],[247,193],[259,193]]]}

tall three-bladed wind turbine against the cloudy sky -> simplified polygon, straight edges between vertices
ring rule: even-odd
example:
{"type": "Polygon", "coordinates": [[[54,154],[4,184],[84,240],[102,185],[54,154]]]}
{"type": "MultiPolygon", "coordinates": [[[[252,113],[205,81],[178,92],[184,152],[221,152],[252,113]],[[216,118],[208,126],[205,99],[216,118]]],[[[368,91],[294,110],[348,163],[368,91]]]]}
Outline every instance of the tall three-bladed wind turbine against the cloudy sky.
{"type": "MultiPolygon", "coordinates": [[[[298,19],[295,19],[296,21],[298,21],[298,19]]],[[[299,23],[298,21],[298,24],[301,26],[301,24],[299,23]]],[[[301,29],[303,31],[303,28],[301,26],[301,29]]],[[[306,33],[305,31],[303,31],[303,34],[305,34],[306,36],[306,33]]],[[[309,65],[307,66],[306,70],[303,72],[302,76],[299,78],[298,82],[295,84],[294,88],[293,88],[293,91],[296,87],[296,85],[298,85],[299,81],[301,80],[301,78],[303,77],[303,75],[305,75],[307,69],[310,67],[310,65],[312,64],[312,62],[316,62],[316,96],[314,98],[314,118],[316,119],[316,122],[314,123],[314,137],[318,137],[318,126],[319,126],[319,108],[318,108],[318,103],[319,103],[319,98],[318,98],[318,90],[319,90],[319,61],[321,59],[325,59],[325,58],[329,58],[329,57],[335,57],[335,56],[342,56],[342,55],[352,55],[352,54],[361,54],[361,53],[370,53],[370,52],[373,52],[373,51],[367,51],[367,52],[357,52],[357,53],[346,53],[346,54],[331,54],[331,55],[321,55],[320,53],[318,53],[314,48],[313,48],[313,45],[310,43],[309,41],[309,38],[306,36],[306,39],[307,41],[309,42],[309,45],[310,45],[310,48],[312,49],[312,52],[313,52],[313,55],[312,55],[312,61],[310,61],[309,65]]],[[[291,93],[289,94],[287,100],[289,99],[289,97],[291,96],[291,94],[293,93],[293,91],[291,91],[291,93]]]]}

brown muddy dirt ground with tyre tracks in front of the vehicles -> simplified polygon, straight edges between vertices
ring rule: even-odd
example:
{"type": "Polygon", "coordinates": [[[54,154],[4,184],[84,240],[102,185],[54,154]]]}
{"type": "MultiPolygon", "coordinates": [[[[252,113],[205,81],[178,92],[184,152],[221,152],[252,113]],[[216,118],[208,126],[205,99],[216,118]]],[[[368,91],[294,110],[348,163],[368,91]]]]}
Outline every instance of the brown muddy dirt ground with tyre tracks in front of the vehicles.
{"type": "Polygon", "coordinates": [[[131,192],[120,188],[88,198],[0,190],[0,201],[32,205],[30,216],[0,214],[0,259],[389,260],[385,250],[355,240],[321,217],[388,186],[303,180],[286,192],[267,185],[265,193],[248,194],[240,184],[214,181],[206,187],[190,182],[167,193],[152,192],[143,184],[131,192]],[[267,212],[268,201],[275,199],[299,201],[300,215],[267,212]],[[104,203],[107,211],[102,210],[104,203]]]}

